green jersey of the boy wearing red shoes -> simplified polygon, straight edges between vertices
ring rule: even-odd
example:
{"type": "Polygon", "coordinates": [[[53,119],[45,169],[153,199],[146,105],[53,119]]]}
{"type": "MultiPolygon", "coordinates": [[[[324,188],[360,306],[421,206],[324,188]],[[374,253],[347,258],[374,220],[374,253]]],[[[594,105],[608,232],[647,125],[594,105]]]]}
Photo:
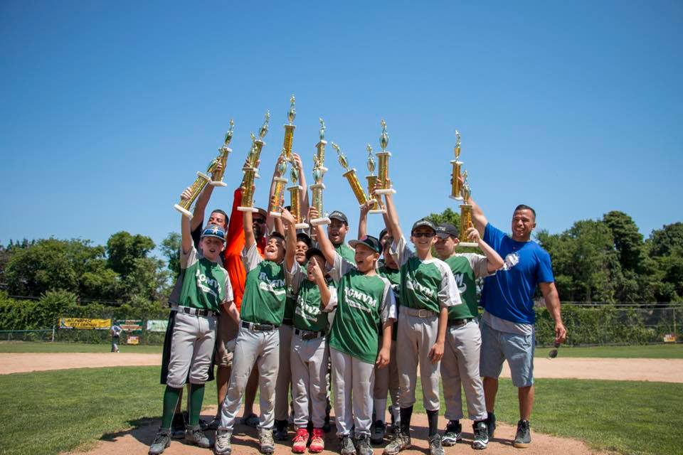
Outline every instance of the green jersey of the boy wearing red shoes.
{"type": "MultiPolygon", "coordinates": [[[[294,307],[294,326],[300,330],[327,332],[327,313],[322,309],[322,298],[318,285],[308,279],[305,267],[295,262],[292,270],[287,271],[287,282],[296,296],[294,307]]],[[[332,299],[327,308],[337,304],[337,288],[329,285],[332,299]]]]}

